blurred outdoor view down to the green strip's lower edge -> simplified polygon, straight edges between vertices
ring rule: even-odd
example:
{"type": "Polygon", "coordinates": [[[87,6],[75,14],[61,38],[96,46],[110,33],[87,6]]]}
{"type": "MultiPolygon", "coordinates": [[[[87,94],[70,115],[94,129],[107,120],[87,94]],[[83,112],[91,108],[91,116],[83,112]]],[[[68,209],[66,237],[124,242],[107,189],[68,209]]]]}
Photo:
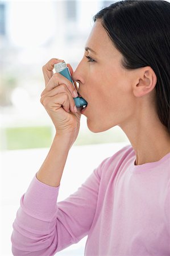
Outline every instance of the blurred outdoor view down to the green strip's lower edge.
{"type": "MultiPolygon", "coordinates": [[[[1,1],[2,149],[49,147],[53,124],[40,104],[42,66],[52,57],[73,70],[84,55],[93,15],[113,1],[1,1]]],[[[119,142],[119,127],[94,134],[81,118],[75,144],[119,142]]]]}

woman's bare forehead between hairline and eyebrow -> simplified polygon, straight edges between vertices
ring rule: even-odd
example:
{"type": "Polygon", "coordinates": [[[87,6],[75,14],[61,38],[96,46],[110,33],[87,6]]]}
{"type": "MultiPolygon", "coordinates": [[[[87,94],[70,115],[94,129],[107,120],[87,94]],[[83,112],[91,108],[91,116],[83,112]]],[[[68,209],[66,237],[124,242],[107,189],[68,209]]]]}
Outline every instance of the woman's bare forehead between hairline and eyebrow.
{"type": "Polygon", "coordinates": [[[100,54],[105,53],[110,55],[113,53],[115,55],[119,53],[99,20],[93,25],[92,31],[86,42],[86,47],[92,48],[100,54]]]}

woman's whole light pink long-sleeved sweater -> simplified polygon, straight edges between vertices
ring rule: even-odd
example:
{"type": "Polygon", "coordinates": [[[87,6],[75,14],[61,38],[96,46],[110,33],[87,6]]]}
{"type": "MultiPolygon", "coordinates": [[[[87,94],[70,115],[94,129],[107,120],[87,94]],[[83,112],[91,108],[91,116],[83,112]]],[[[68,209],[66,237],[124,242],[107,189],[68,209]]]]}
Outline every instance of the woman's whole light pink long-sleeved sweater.
{"type": "Polygon", "coordinates": [[[35,176],[13,224],[13,254],[51,256],[88,235],[85,255],[170,255],[170,153],[134,162],[123,147],[57,204],[59,187],[35,176]]]}

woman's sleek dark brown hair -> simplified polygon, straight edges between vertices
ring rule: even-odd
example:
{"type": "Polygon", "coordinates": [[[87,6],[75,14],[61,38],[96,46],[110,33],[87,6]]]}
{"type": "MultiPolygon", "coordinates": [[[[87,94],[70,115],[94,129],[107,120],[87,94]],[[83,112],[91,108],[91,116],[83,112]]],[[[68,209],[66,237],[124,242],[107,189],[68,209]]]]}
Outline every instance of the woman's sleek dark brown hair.
{"type": "Polygon", "coordinates": [[[157,114],[170,133],[170,3],[119,1],[99,11],[97,19],[122,53],[123,67],[154,70],[157,114]]]}

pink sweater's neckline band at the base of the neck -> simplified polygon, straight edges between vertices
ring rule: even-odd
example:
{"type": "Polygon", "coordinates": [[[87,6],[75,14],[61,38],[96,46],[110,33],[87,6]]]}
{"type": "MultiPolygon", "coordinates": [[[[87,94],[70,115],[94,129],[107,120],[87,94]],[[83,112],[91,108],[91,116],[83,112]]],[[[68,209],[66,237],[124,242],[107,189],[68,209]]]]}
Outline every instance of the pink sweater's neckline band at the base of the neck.
{"type": "Polygon", "coordinates": [[[170,152],[168,154],[164,155],[163,158],[161,158],[160,160],[158,160],[156,162],[139,164],[138,166],[135,166],[136,155],[134,154],[134,157],[132,158],[132,171],[138,172],[138,171],[151,170],[152,168],[155,168],[155,167],[159,166],[160,164],[166,162],[168,159],[170,161],[170,152]]]}

